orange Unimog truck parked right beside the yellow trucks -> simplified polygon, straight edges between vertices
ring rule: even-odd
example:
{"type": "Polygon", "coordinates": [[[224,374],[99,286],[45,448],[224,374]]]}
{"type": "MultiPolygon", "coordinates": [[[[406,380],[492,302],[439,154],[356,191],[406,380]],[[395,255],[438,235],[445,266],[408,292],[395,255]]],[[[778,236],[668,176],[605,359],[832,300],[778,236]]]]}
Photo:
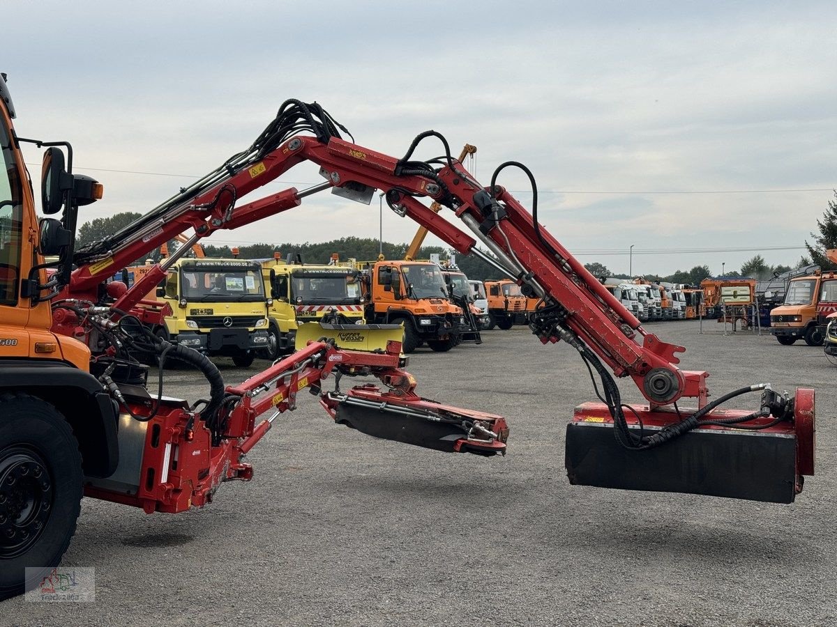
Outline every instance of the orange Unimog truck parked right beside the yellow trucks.
{"type": "Polygon", "coordinates": [[[379,259],[355,266],[363,271],[367,324],[402,324],[404,353],[423,342],[437,352],[450,350],[470,330],[435,263],[379,259]]]}

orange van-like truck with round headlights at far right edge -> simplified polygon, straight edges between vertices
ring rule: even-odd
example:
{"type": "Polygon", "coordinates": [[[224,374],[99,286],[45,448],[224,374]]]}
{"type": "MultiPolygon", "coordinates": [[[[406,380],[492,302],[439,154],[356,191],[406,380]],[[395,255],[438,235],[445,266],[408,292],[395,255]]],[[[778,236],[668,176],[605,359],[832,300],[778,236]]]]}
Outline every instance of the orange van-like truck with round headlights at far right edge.
{"type": "MultiPolygon", "coordinates": [[[[784,302],[770,312],[770,333],[779,344],[790,345],[804,339],[809,346],[820,346],[824,340],[824,321],[818,320],[819,298],[823,281],[834,280],[834,273],[819,271],[791,279],[784,302]]],[[[831,297],[829,286],[826,296],[831,297]]]]}

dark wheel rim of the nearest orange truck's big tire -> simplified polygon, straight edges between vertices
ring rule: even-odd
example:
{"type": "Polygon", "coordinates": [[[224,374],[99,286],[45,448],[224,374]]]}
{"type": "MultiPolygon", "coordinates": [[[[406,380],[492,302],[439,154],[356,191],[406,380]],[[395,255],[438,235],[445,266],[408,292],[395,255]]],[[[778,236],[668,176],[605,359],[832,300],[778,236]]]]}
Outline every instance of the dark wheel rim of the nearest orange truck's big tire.
{"type": "Polygon", "coordinates": [[[44,459],[23,446],[0,452],[0,558],[15,558],[38,542],[52,505],[44,459]]]}

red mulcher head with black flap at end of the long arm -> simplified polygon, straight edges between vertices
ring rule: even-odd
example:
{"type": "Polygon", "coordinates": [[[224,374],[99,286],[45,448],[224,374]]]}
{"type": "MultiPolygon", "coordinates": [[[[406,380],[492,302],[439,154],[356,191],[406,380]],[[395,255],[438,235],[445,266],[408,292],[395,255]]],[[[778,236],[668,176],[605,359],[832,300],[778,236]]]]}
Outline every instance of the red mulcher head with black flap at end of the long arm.
{"type": "MultiPolygon", "coordinates": [[[[644,451],[629,450],[616,440],[606,405],[585,403],[567,425],[567,477],[581,486],[793,502],[802,492],[803,475],[814,474],[813,395],[814,390],[798,391],[793,421],[761,431],[701,426],[644,451]],[[799,392],[810,392],[809,410],[799,406],[799,392]]],[[[680,421],[673,411],[633,407],[645,435],[680,421]]],[[[681,410],[682,415],[691,413],[681,410]]],[[[748,413],[716,410],[707,417],[748,413]]],[[[625,415],[639,433],[635,416],[629,410],[625,415]]]]}

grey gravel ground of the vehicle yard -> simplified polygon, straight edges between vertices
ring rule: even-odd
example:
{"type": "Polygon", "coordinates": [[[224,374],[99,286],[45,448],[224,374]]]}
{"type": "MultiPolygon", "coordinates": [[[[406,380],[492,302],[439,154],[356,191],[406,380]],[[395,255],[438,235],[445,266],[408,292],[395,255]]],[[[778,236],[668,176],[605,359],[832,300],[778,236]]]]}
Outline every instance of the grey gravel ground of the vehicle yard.
{"type": "MultiPolygon", "coordinates": [[[[508,456],[377,441],[302,395],[250,454],[254,481],[225,484],[202,511],[85,499],[64,564],[95,567],[95,603],[12,599],[0,624],[837,624],[834,370],[822,349],[724,336],[714,322],[704,334],[694,321],[647,328],[685,345],[681,367],[709,370],[716,395],[761,381],[817,388],[818,474],[797,502],[570,486],[563,431],[593,400],[587,371],[562,344],[498,330],[449,354],[419,349],[409,370],[425,396],[506,415],[508,456]]],[[[248,375],[219,364],[230,383],[248,375]]],[[[172,395],[205,393],[187,372],[167,382],[172,395]]]]}

